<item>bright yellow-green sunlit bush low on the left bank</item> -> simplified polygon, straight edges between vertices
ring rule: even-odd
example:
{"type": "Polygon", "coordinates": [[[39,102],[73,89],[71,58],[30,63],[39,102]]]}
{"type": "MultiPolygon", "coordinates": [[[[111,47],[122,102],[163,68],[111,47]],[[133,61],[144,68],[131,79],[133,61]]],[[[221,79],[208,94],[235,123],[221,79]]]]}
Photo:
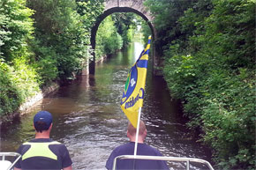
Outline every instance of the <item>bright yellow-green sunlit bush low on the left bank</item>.
{"type": "Polygon", "coordinates": [[[13,66],[0,63],[0,115],[6,115],[40,91],[35,70],[25,58],[16,58],[13,66]]]}

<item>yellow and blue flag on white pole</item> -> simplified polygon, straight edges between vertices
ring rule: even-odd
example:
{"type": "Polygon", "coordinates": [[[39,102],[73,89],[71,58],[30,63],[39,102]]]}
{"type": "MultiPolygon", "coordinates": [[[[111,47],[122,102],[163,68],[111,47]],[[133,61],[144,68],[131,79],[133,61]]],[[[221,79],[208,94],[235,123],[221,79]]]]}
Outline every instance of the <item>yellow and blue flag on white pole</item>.
{"type": "Polygon", "coordinates": [[[150,41],[151,36],[148,37],[147,48],[141,52],[128,73],[121,100],[121,108],[134,128],[137,128],[139,107],[143,105],[150,41]]]}

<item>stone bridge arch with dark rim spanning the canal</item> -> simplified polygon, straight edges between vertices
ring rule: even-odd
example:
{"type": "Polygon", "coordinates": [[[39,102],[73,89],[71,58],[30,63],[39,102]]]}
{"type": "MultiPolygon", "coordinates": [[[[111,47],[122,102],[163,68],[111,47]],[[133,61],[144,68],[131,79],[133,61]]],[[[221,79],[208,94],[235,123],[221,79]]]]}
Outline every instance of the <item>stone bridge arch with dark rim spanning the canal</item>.
{"type": "MultiPolygon", "coordinates": [[[[95,49],[96,46],[96,33],[98,30],[98,27],[102,23],[102,20],[112,13],[115,12],[133,12],[138,14],[141,18],[145,19],[147,21],[148,26],[151,29],[152,32],[152,45],[151,50],[153,50],[153,64],[154,66],[157,65],[156,57],[155,57],[155,48],[154,48],[154,39],[156,36],[156,32],[154,29],[154,25],[152,24],[152,16],[149,11],[146,10],[145,6],[143,5],[143,2],[145,0],[106,0],[105,1],[105,9],[100,15],[95,24],[94,27],[91,30],[91,46],[93,49],[95,49]]],[[[93,50],[94,51],[94,50],[93,50]]],[[[93,52],[94,60],[89,63],[89,73],[94,74],[95,71],[95,53],[93,52]]]]}

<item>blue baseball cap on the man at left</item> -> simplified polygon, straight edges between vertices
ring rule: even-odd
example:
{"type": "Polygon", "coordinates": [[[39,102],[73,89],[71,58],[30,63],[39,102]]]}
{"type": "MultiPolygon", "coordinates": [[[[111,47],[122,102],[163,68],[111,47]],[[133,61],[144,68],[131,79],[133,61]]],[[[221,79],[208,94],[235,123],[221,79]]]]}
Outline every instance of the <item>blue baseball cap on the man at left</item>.
{"type": "Polygon", "coordinates": [[[52,123],[52,115],[48,111],[40,111],[34,115],[34,128],[47,130],[52,123]],[[44,126],[41,126],[44,123],[44,126]]]}

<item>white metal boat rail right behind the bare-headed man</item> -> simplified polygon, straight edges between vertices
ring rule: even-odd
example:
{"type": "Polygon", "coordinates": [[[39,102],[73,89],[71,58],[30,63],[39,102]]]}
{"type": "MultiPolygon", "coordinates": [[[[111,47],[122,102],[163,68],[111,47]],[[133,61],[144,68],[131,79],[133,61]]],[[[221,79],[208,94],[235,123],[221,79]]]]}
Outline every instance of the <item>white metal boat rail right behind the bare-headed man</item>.
{"type": "Polygon", "coordinates": [[[162,156],[145,156],[145,155],[120,155],[114,159],[113,170],[117,169],[117,159],[147,159],[147,160],[166,160],[166,161],[177,161],[186,162],[186,170],[190,169],[190,162],[196,162],[206,165],[210,170],[214,170],[213,166],[204,159],[195,158],[180,158],[180,157],[162,157],[162,156]]]}

